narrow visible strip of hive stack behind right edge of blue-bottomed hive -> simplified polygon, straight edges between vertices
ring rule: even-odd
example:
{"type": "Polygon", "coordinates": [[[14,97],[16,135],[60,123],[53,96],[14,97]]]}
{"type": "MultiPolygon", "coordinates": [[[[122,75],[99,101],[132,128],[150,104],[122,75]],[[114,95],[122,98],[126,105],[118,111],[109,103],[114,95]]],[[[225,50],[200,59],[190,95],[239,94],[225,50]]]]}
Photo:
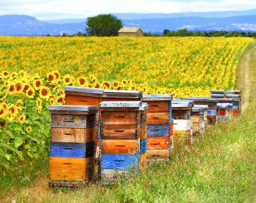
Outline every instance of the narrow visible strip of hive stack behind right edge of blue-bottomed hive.
{"type": "Polygon", "coordinates": [[[149,106],[147,103],[143,103],[141,112],[141,123],[140,123],[140,140],[141,140],[141,158],[140,166],[141,168],[147,167],[147,110],[149,106]]]}

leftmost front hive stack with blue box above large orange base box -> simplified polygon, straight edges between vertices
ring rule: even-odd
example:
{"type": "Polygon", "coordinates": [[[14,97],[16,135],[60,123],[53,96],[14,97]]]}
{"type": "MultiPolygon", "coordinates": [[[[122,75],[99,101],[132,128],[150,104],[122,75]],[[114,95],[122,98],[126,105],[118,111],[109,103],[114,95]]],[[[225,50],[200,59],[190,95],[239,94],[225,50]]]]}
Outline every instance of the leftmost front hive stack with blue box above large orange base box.
{"type": "Polygon", "coordinates": [[[50,106],[50,186],[93,179],[97,112],[97,106],[50,106]]]}

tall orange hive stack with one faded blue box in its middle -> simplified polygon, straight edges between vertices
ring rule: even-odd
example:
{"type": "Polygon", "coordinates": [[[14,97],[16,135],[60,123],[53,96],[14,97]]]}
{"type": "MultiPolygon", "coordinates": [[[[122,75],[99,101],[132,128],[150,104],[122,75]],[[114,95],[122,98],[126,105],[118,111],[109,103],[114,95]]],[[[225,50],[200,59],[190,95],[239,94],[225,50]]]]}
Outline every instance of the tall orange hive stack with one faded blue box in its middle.
{"type": "Polygon", "coordinates": [[[170,160],[172,147],[172,95],[143,95],[147,113],[147,159],[170,160]]]}

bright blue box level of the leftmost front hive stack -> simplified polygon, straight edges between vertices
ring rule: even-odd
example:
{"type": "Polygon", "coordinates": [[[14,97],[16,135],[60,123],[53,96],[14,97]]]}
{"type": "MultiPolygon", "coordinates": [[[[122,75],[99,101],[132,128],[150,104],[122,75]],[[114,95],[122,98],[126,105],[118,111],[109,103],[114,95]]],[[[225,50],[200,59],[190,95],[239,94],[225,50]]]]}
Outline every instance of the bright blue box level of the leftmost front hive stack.
{"type": "Polygon", "coordinates": [[[71,157],[71,158],[86,158],[94,156],[95,143],[65,143],[51,142],[50,156],[55,157],[71,157]]]}

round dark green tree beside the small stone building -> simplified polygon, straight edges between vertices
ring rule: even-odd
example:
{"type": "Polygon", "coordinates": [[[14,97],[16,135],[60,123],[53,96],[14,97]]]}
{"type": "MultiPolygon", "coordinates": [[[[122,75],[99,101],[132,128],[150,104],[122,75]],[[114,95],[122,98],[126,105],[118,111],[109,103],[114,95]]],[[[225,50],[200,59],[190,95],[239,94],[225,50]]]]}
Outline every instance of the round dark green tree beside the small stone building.
{"type": "Polygon", "coordinates": [[[89,17],[86,22],[86,32],[89,36],[117,36],[122,27],[122,21],[111,14],[89,17]]]}

